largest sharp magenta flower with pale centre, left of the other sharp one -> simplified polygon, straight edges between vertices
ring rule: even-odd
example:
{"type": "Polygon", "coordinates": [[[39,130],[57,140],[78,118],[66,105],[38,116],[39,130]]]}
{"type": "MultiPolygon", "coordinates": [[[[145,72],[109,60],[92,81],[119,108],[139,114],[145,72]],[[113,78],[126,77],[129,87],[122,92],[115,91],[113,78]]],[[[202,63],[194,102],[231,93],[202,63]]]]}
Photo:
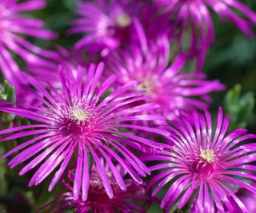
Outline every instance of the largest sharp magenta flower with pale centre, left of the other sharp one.
{"type": "Polygon", "coordinates": [[[103,64],[90,65],[86,81],[82,81],[82,69],[78,68],[78,74],[74,77],[70,67],[64,65],[60,70],[61,91],[49,85],[50,92],[48,92],[38,81],[29,79],[33,88],[38,90],[31,93],[42,102],[42,106],[24,104],[16,105],[14,108],[10,103],[0,103],[0,111],[33,120],[34,124],[0,132],[0,136],[11,133],[10,136],[3,137],[2,141],[34,136],[3,156],[6,158],[19,152],[8,165],[14,168],[26,161],[27,164],[22,168],[20,175],[38,167],[30,179],[30,187],[38,185],[55,171],[49,187],[49,190],[52,190],[66,170],[75,150],[77,152],[73,159],[77,159],[77,166],[74,177],[74,199],[78,199],[80,191],[82,191],[82,200],[87,198],[90,185],[90,159],[94,160],[106,194],[110,198],[113,197],[113,189],[100,161],[101,156],[106,160],[106,164],[109,165],[122,190],[126,190],[126,184],[112,161],[115,160],[121,164],[138,183],[142,183],[141,176],[150,173],[145,164],[142,164],[142,161],[138,160],[126,145],[137,149],[144,146],[161,148],[161,145],[152,140],[134,136],[131,132],[118,131],[118,128],[140,129],[168,135],[168,132],[157,128],[129,124],[131,120],[163,120],[164,118],[141,114],[146,108],[158,106],[138,105],[139,102],[145,103],[148,97],[143,91],[133,92],[136,82],[130,82],[107,96],[106,92],[109,93],[115,77],[112,75],[100,84],[102,71],[103,64]],[[131,107],[134,103],[137,105],[131,107]],[[110,160],[110,156],[114,160],[110,160]]]}

